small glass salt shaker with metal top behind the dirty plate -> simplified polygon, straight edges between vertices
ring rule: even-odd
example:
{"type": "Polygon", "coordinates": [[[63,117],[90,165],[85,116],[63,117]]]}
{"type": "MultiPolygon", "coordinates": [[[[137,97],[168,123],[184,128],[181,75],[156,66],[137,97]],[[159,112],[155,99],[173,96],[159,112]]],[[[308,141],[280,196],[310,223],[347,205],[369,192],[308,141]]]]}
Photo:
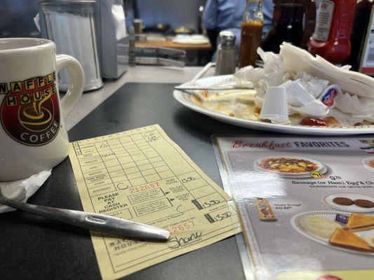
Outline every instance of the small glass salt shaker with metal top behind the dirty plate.
{"type": "Polygon", "coordinates": [[[215,57],[215,75],[235,73],[235,34],[232,31],[220,31],[217,55],[215,57]]]}

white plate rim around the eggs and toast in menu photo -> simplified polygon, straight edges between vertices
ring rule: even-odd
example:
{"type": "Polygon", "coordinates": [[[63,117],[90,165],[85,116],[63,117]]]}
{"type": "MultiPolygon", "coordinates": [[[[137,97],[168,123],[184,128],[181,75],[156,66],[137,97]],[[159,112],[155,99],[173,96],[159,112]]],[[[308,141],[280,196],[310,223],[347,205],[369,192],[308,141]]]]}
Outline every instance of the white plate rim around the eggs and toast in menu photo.
{"type": "MultiPolygon", "coordinates": [[[[363,251],[352,250],[352,249],[349,249],[349,248],[342,248],[342,247],[338,247],[338,246],[333,246],[328,242],[328,238],[319,237],[319,236],[316,236],[316,235],[312,235],[309,232],[306,232],[305,230],[302,229],[302,227],[300,226],[300,223],[299,223],[301,218],[303,218],[305,216],[311,216],[311,215],[319,215],[319,216],[321,216],[321,218],[326,218],[326,219],[335,221],[336,214],[349,215],[349,213],[344,213],[344,212],[309,211],[309,212],[303,212],[303,213],[296,214],[295,216],[293,216],[291,218],[290,223],[291,223],[292,227],[294,228],[294,230],[299,232],[301,235],[307,237],[308,239],[316,241],[319,244],[322,244],[322,245],[325,245],[325,246],[328,246],[330,248],[334,248],[334,249],[337,249],[337,250],[340,250],[340,251],[357,253],[357,254],[360,254],[360,255],[373,255],[374,256],[374,253],[368,253],[368,252],[363,252],[363,251]]],[[[361,236],[363,234],[363,232],[367,232],[367,231],[354,232],[354,233],[358,236],[361,236]]]]}

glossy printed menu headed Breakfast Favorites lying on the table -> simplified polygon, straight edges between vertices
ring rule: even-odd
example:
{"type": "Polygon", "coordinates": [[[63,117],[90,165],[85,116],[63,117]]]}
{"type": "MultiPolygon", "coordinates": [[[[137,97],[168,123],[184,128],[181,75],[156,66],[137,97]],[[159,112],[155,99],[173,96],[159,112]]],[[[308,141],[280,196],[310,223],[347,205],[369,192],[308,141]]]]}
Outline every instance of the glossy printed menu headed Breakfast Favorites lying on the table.
{"type": "Polygon", "coordinates": [[[374,139],[213,137],[250,279],[374,279],[374,139]]]}

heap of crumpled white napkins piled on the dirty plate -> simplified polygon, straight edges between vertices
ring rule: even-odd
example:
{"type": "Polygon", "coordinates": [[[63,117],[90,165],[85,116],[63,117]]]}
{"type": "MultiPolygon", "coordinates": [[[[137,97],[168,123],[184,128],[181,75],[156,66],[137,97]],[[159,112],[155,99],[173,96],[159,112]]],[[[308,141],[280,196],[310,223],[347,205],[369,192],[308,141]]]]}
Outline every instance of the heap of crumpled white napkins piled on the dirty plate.
{"type": "MultiPolygon", "coordinates": [[[[365,84],[365,87],[370,84],[371,90],[369,95],[367,94],[368,92],[366,94],[359,94],[356,88],[354,88],[354,93],[356,94],[343,94],[338,83],[332,83],[329,86],[330,81],[324,79],[330,76],[321,76],[320,73],[318,78],[312,75],[313,71],[311,73],[307,72],[307,70],[310,70],[309,68],[300,66],[306,63],[298,57],[300,55],[307,56],[312,61],[316,60],[308,52],[288,43],[283,43],[281,48],[282,51],[279,55],[273,52],[264,52],[261,48],[258,48],[258,55],[260,55],[264,62],[263,67],[253,68],[253,66],[246,66],[234,73],[234,80],[237,85],[253,83],[254,89],[258,92],[254,99],[256,107],[262,108],[266,95],[265,92],[267,92],[269,87],[279,86],[287,90],[289,115],[299,113],[301,116],[313,118],[326,118],[330,116],[338,120],[340,125],[344,126],[364,123],[364,120],[374,122],[373,78],[366,78],[361,74],[357,76],[355,72],[347,71],[348,67],[344,69],[337,68],[319,58],[325,70],[329,69],[329,71],[334,70],[336,73],[341,73],[342,75],[346,74],[346,76],[343,75],[343,80],[352,82],[352,79],[356,77],[361,78],[360,83],[365,84]],[[290,67],[289,64],[292,64],[293,67],[290,67]],[[335,90],[338,94],[335,97],[334,95],[330,97],[328,95],[330,94],[330,90],[335,90]],[[325,97],[332,98],[333,103],[326,104],[322,102],[322,99],[325,97]]],[[[343,84],[345,85],[345,83],[343,84]]],[[[244,110],[242,106],[238,106],[236,109],[244,110]]],[[[237,115],[236,113],[234,114],[235,116],[237,115]]]]}

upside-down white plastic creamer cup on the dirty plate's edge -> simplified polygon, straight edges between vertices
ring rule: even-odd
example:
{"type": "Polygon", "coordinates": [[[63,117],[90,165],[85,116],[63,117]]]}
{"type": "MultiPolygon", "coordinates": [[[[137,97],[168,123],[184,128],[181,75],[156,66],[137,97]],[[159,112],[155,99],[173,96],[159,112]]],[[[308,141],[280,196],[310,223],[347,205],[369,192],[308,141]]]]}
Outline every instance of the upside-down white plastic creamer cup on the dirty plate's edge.
{"type": "Polygon", "coordinates": [[[269,87],[265,94],[260,119],[272,123],[290,123],[288,119],[287,91],[283,87],[269,87]]]}

